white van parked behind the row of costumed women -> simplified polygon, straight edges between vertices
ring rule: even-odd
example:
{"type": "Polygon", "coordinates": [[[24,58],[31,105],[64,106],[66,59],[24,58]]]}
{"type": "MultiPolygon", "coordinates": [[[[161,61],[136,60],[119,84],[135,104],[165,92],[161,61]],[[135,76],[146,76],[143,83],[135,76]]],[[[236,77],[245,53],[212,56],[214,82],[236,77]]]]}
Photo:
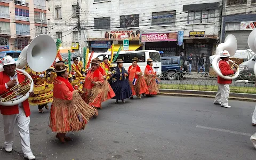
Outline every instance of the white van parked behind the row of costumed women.
{"type": "MultiPolygon", "coordinates": [[[[116,55],[116,52],[114,52],[114,57],[115,57],[115,55],[116,55]]],[[[111,52],[102,53],[101,55],[98,55],[98,58],[100,60],[102,60],[103,57],[108,57],[108,59],[110,60],[111,52]]],[[[147,59],[151,58],[153,60],[154,71],[156,71],[157,75],[162,74],[161,57],[160,57],[160,54],[158,51],[154,51],[154,50],[121,51],[118,55],[118,58],[123,59],[123,61],[124,61],[123,67],[126,70],[128,70],[129,67],[132,65],[132,59],[134,57],[137,57],[140,60],[138,62],[138,65],[140,66],[140,69],[143,73],[147,66],[147,59]]],[[[113,62],[113,63],[116,65],[116,62],[113,62]]]]}

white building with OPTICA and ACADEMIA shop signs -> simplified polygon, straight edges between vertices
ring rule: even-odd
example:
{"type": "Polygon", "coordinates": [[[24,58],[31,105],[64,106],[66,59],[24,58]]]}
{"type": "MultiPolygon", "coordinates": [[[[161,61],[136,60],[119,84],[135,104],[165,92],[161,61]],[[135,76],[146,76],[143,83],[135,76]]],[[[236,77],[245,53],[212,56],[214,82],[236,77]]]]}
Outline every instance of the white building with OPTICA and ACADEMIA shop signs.
{"type": "Polygon", "coordinates": [[[158,50],[161,56],[185,58],[193,53],[193,70],[205,53],[209,69],[209,56],[219,39],[220,5],[217,0],[92,0],[85,10],[87,40],[95,52],[130,39],[130,50],[158,50]]]}

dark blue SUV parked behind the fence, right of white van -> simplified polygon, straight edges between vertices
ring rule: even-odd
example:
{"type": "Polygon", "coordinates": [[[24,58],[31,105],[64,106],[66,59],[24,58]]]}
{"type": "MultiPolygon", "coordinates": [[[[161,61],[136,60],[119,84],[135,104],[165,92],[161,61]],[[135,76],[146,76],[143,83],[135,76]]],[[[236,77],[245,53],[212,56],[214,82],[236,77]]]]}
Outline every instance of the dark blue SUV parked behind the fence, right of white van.
{"type": "Polygon", "coordinates": [[[176,80],[183,78],[185,71],[188,69],[184,63],[185,59],[180,56],[162,57],[162,78],[176,80]]]}

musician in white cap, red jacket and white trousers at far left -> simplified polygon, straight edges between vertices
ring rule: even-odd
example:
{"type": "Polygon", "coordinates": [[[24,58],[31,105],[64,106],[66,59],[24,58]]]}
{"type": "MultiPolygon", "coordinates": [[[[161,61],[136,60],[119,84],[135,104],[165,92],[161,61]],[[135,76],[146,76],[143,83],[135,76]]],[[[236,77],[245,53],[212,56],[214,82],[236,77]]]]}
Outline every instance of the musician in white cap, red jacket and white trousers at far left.
{"type": "MultiPolygon", "coordinates": [[[[0,95],[8,92],[13,86],[25,81],[25,76],[16,72],[15,60],[7,55],[2,59],[4,71],[0,72],[0,95]]],[[[15,91],[15,90],[14,90],[15,91]]],[[[10,95],[12,92],[7,93],[10,95]]],[[[34,93],[29,93],[33,97],[34,93]]],[[[14,125],[18,123],[21,146],[25,159],[35,159],[30,148],[29,122],[30,109],[28,100],[15,106],[1,106],[4,120],[5,151],[11,152],[14,142],[14,125]]]]}

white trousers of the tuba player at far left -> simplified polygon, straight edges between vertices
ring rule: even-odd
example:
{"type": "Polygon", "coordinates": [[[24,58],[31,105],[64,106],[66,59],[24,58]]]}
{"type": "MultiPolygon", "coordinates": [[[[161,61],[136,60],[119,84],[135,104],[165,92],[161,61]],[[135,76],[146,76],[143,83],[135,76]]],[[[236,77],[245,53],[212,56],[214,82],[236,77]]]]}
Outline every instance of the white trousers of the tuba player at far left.
{"type": "Polygon", "coordinates": [[[14,125],[17,121],[20,133],[20,140],[24,157],[32,156],[30,149],[29,122],[30,117],[26,117],[23,107],[19,108],[19,114],[3,115],[5,148],[11,148],[14,142],[14,125]]]}

